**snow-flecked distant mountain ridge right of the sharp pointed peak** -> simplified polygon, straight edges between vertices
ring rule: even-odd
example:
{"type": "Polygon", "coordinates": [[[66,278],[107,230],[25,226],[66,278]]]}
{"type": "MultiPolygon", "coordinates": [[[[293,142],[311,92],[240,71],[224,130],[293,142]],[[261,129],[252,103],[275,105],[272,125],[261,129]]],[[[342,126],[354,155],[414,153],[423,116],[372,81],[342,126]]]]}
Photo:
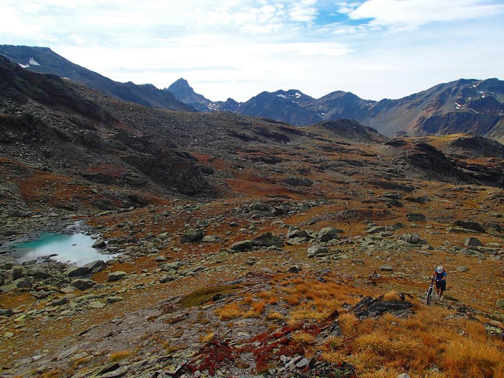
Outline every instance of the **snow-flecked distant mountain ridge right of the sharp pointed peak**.
{"type": "Polygon", "coordinates": [[[261,92],[233,109],[215,102],[205,111],[231,110],[297,126],[347,118],[389,137],[471,133],[504,142],[503,102],[504,81],[460,79],[395,100],[364,100],[345,91],[316,99],[290,89],[261,92]]]}

